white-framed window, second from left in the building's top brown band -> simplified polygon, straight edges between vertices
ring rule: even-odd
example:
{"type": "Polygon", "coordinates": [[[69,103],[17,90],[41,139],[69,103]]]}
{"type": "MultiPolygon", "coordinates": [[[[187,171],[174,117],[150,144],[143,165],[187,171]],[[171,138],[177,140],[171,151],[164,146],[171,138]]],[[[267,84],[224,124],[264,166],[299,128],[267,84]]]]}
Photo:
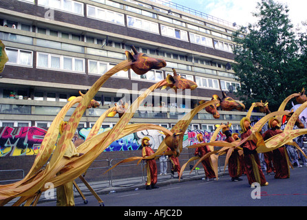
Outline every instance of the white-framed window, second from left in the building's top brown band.
{"type": "Polygon", "coordinates": [[[124,14],[98,8],[93,5],[87,5],[87,17],[102,21],[109,21],[118,25],[125,25],[124,14]]]}

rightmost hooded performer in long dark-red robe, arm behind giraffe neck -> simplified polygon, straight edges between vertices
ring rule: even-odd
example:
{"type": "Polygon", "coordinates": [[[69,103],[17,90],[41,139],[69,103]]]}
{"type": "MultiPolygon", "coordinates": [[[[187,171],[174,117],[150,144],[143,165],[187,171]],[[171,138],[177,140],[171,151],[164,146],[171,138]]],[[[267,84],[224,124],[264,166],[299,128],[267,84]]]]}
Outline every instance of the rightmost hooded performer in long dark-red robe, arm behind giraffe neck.
{"type": "MultiPolygon", "coordinates": [[[[264,141],[269,138],[282,133],[280,130],[279,120],[277,118],[270,118],[268,120],[268,130],[262,135],[264,141]]],[[[290,177],[290,167],[289,167],[289,157],[285,146],[280,146],[279,148],[272,151],[273,166],[275,168],[275,178],[276,179],[286,179],[290,177]]]]}

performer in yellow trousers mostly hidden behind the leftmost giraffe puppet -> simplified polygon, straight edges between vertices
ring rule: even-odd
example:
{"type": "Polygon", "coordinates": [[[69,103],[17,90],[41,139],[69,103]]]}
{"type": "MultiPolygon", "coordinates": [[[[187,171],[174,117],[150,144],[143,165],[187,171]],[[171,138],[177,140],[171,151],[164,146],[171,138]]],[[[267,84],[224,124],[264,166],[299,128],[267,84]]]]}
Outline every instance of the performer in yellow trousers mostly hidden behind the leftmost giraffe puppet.
{"type": "MultiPolygon", "coordinates": [[[[60,134],[65,130],[65,126],[67,122],[61,122],[60,124],[60,134]]],[[[70,145],[67,146],[66,151],[64,153],[64,157],[80,157],[83,153],[78,153],[76,151],[76,146],[71,141],[70,145]]],[[[59,175],[61,174],[61,171],[59,175]]],[[[73,182],[70,181],[67,184],[63,184],[61,186],[56,187],[56,206],[74,206],[74,190],[73,190],[73,182]]]]}

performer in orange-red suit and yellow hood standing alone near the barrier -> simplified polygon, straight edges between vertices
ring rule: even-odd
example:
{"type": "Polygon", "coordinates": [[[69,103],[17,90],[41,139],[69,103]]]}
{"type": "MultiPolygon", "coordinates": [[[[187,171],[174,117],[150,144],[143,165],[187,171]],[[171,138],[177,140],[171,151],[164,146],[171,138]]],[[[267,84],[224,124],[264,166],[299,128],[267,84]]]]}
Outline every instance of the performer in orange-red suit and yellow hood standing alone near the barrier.
{"type": "MultiPolygon", "coordinates": [[[[148,157],[154,154],[154,150],[150,147],[149,137],[144,137],[142,139],[142,157],[148,157]]],[[[157,184],[157,163],[156,159],[146,159],[146,167],[147,167],[147,181],[146,181],[146,189],[151,190],[151,188],[159,188],[156,186],[157,184]]]]}

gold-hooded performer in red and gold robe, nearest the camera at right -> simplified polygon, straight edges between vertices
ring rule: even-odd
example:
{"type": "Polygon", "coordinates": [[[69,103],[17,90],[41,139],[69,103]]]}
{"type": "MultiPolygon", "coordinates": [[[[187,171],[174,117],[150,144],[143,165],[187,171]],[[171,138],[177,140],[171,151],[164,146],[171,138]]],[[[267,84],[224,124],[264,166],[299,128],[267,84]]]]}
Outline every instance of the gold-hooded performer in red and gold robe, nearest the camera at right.
{"type": "MultiPolygon", "coordinates": [[[[240,126],[242,129],[241,140],[244,140],[245,137],[252,134],[251,121],[244,117],[240,121],[240,126]]],[[[264,173],[262,172],[260,159],[256,151],[256,142],[256,140],[247,140],[241,145],[244,152],[246,176],[248,179],[248,184],[250,185],[257,182],[260,184],[260,186],[267,186],[268,182],[266,181],[266,177],[264,177],[264,173]]]]}

